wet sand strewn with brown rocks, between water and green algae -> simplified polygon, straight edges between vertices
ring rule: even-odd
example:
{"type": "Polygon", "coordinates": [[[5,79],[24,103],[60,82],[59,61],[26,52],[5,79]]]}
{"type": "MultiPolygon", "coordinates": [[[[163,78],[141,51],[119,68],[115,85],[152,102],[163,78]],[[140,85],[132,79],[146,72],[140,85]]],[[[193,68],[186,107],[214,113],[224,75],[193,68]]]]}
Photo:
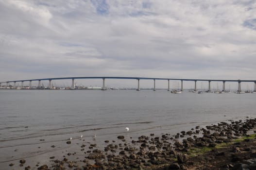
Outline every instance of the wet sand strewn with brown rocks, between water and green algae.
{"type": "Polygon", "coordinates": [[[51,136],[39,137],[33,139],[38,141],[34,144],[27,141],[16,146],[10,142],[9,147],[0,148],[3,160],[0,166],[3,170],[150,170],[171,169],[170,165],[176,163],[180,168],[189,169],[191,165],[187,160],[181,161],[180,155],[188,155],[185,159],[189,160],[189,153],[194,148],[215,149],[216,145],[254,133],[255,127],[256,119],[245,119],[191,126],[184,131],[177,129],[179,132],[175,134],[169,134],[168,128],[159,127],[155,133],[137,134],[131,130],[117,136],[98,135],[96,138],[76,135],[71,140],[51,141],[51,136]]]}

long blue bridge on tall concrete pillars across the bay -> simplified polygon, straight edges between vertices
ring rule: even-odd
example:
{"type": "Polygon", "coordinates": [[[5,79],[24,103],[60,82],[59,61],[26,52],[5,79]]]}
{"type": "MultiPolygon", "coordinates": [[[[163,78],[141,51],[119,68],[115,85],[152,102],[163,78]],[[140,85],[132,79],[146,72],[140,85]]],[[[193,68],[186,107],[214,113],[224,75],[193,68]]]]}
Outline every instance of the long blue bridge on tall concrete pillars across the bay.
{"type": "Polygon", "coordinates": [[[238,91],[241,91],[241,82],[253,82],[254,91],[256,91],[256,80],[214,80],[214,79],[173,79],[173,78],[152,78],[152,77],[57,77],[57,78],[44,78],[44,79],[27,79],[27,80],[13,80],[0,82],[8,86],[10,83],[13,83],[13,87],[16,88],[16,83],[21,82],[21,87],[23,87],[23,82],[29,82],[29,87],[31,88],[32,81],[38,81],[38,87],[41,86],[41,81],[49,81],[49,89],[52,88],[52,80],[72,80],[71,89],[75,89],[74,80],[75,79],[102,79],[102,90],[105,90],[105,79],[133,79],[137,80],[137,90],[140,90],[139,80],[153,80],[154,81],[154,90],[155,90],[155,81],[156,80],[167,80],[168,81],[168,91],[170,91],[170,80],[181,81],[181,90],[183,90],[184,81],[193,81],[195,82],[194,90],[197,90],[197,81],[208,82],[208,91],[211,91],[211,82],[222,82],[222,90],[225,91],[225,82],[238,82],[238,91]]]}

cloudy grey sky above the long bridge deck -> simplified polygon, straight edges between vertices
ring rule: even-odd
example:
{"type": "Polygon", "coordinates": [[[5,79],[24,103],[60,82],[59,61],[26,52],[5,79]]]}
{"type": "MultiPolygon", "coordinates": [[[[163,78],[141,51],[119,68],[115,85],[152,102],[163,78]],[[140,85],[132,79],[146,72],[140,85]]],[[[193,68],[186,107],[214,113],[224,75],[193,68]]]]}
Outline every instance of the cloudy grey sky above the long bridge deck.
{"type": "Polygon", "coordinates": [[[256,79],[256,0],[0,0],[0,81],[256,79]]]}

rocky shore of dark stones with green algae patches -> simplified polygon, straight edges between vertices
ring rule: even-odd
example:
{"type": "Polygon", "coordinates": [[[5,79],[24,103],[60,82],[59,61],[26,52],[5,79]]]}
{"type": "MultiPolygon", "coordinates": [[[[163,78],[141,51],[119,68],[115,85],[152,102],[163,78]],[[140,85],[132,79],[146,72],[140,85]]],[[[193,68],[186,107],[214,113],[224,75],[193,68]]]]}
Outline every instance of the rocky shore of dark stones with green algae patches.
{"type": "Polygon", "coordinates": [[[67,145],[76,144],[79,149],[63,153],[62,159],[54,155],[49,164],[35,167],[22,159],[9,166],[19,164],[25,170],[256,170],[255,127],[256,119],[229,120],[175,135],[139,136],[129,142],[117,136],[105,140],[102,149],[85,140],[67,140],[67,145]]]}

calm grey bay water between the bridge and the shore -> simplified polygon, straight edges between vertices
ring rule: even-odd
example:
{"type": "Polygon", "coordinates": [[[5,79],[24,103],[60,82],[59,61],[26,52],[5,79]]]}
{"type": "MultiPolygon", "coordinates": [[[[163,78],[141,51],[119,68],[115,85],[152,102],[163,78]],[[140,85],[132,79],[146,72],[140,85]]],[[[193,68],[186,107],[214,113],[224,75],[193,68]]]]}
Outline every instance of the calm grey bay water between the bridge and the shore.
{"type": "MultiPolygon", "coordinates": [[[[0,152],[6,153],[0,163],[14,159],[10,150],[31,148],[42,138],[51,144],[70,136],[91,140],[97,134],[101,143],[122,134],[174,134],[196,125],[255,118],[255,99],[256,94],[165,90],[0,90],[0,152]]],[[[20,154],[26,157],[28,151],[20,154]]]]}

